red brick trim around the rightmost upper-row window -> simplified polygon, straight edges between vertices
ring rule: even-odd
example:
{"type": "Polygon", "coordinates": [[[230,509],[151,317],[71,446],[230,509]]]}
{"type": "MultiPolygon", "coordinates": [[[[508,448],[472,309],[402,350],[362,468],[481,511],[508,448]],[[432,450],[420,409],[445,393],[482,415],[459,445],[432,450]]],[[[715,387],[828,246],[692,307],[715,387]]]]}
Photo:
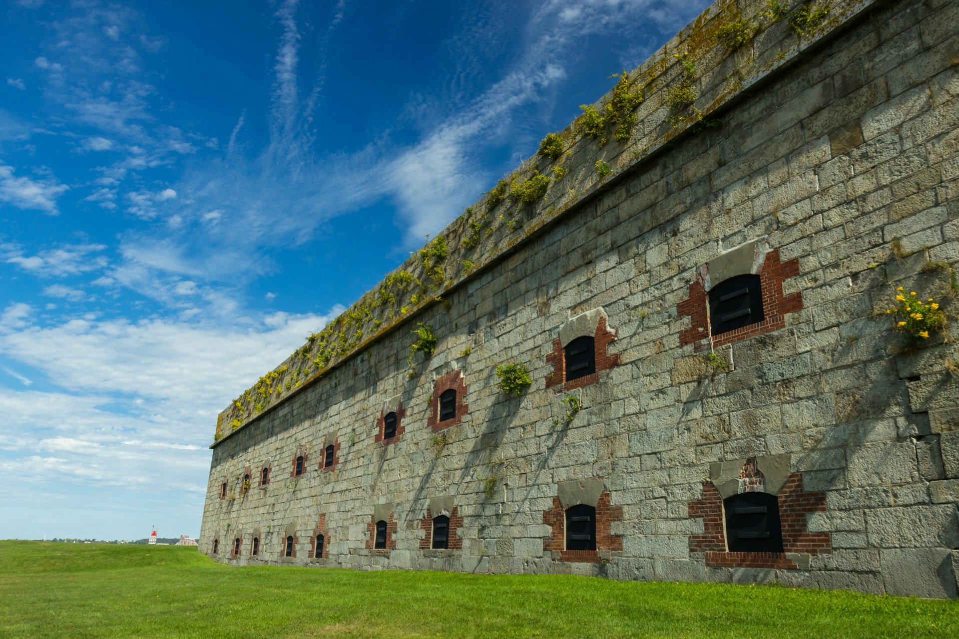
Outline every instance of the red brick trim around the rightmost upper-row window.
{"type": "MultiPolygon", "coordinates": [[[[783,283],[799,275],[799,258],[780,262],[779,249],[774,248],[765,254],[765,259],[757,275],[762,286],[762,312],[765,319],[756,324],[744,326],[735,331],[713,335],[713,348],[756,337],[767,332],[785,328],[785,314],[803,309],[803,292],[783,294],[783,283]]],[[[713,285],[720,284],[713,282],[713,285]]],[[[679,333],[680,346],[695,344],[695,351],[709,348],[709,294],[698,279],[690,284],[690,297],[677,306],[680,317],[690,316],[690,328],[679,333]]]]}

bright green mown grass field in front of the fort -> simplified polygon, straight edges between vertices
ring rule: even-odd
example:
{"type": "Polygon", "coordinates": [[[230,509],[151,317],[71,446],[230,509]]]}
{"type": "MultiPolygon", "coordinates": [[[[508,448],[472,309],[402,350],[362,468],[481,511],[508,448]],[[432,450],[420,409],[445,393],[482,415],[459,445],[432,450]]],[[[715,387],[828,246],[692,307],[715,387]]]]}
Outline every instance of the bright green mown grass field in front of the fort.
{"type": "Polygon", "coordinates": [[[582,577],[232,568],[0,541],[0,637],[956,637],[959,603],[582,577]]]}

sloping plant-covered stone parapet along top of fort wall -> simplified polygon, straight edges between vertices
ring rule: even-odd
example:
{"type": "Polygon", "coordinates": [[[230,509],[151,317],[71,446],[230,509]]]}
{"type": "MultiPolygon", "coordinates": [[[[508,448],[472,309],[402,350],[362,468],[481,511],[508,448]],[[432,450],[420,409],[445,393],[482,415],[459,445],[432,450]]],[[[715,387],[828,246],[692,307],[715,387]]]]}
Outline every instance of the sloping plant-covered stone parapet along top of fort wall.
{"type": "MultiPolygon", "coordinates": [[[[618,183],[626,173],[652,165],[664,148],[709,124],[750,89],[781,73],[808,49],[830,40],[884,1],[824,0],[818,4],[829,5],[826,18],[814,30],[799,35],[790,27],[788,11],[778,20],[769,16],[766,0],[717,0],[628,74],[630,90],[642,88],[644,98],[635,111],[637,124],[628,140],[612,139],[613,129],[606,131],[610,138],[606,144],[578,136],[575,128],[582,116],[577,118],[559,132],[568,148],[556,161],[534,155],[505,178],[508,182],[537,173],[549,176],[550,187],[542,201],[524,206],[506,198],[488,207],[489,194],[481,197],[383,282],[231,402],[217,418],[215,442],[210,447],[222,444],[319,378],[335,375],[372,342],[409,324],[424,309],[442,303],[443,295],[478,277],[555,220],[618,183]],[[740,18],[752,23],[756,32],[745,45],[729,51],[717,41],[716,33],[740,18]],[[692,78],[685,72],[684,56],[695,66],[692,78]],[[677,110],[670,107],[667,93],[684,80],[689,80],[696,98],[677,110]],[[608,166],[607,174],[597,171],[600,163],[608,166]],[[558,176],[552,171],[555,167],[566,171],[558,176]],[[448,250],[445,258],[436,261],[428,249],[436,248],[433,242],[440,238],[448,250]]],[[[783,4],[791,11],[802,6],[795,0],[783,4]]],[[[596,109],[604,109],[612,95],[612,90],[607,92],[594,104],[596,109]]]]}

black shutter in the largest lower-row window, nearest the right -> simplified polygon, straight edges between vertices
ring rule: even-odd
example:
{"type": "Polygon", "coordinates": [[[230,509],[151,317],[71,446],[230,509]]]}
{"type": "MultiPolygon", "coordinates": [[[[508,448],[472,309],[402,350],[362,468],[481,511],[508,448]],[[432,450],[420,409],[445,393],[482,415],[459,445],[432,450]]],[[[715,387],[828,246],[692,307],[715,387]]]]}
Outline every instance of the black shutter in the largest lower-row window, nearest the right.
{"type": "Polygon", "coordinates": [[[723,502],[726,545],[733,553],[782,553],[779,500],[768,492],[743,492],[723,502]]]}

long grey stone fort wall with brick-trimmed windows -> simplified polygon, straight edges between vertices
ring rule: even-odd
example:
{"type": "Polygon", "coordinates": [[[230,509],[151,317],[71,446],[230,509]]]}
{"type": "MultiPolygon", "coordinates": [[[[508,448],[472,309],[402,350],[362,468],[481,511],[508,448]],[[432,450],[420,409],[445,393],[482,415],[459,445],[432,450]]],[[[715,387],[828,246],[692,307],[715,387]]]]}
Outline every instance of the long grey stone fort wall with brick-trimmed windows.
{"type": "Polygon", "coordinates": [[[836,2],[799,33],[763,11],[717,2],[629,75],[628,139],[568,127],[514,173],[551,174],[542,201],[480,200],[224,410],[200,550],[955,597],[959,347],[902,350],[882,311],[897,286],[954,308],[959,2],[836,2]],[[758,31],[731,52],[740,17],[758,31]],[[711,335],[710,291],[747,274],[763,319],[711,335]],[[418,323],[438,343],[411,370],[418,323]],[[573,378],[582,336],[596,372],[573,378]],[[760,497],[782,552],[729,538],[760,497]],[[579,505],[595,550],[570,548],[579,505]]]}

